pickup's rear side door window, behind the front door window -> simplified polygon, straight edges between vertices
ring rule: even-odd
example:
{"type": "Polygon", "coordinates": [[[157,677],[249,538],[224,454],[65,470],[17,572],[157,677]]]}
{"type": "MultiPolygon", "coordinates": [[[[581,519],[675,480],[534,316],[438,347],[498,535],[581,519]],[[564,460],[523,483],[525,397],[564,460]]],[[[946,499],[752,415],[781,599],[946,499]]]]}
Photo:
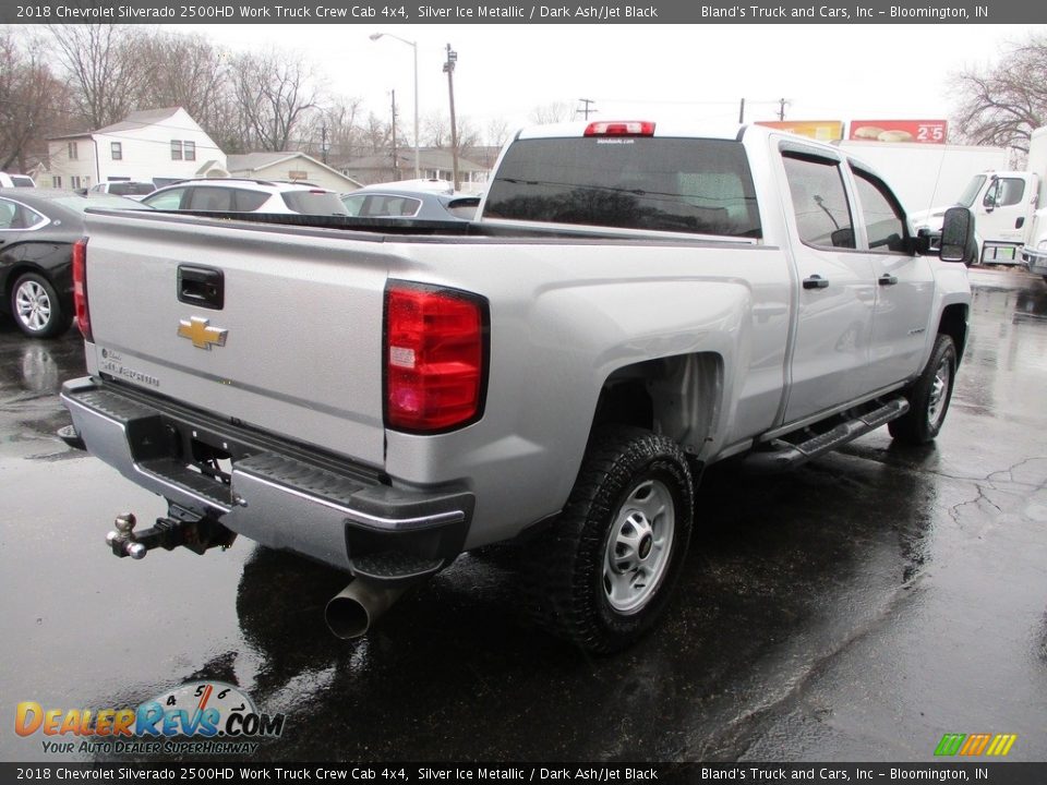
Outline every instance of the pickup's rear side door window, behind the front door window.
{"type": "Polygon", "coordinates": [[[854,225],[837,161],[783,153],[796,231],[807,245],[853,249],[854,225]]]}

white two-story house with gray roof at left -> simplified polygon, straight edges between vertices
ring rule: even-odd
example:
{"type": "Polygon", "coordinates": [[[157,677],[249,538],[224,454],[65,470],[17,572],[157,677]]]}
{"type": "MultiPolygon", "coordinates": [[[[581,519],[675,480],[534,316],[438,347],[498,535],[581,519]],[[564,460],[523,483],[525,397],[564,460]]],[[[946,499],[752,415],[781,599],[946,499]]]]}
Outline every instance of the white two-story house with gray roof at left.
{"type": "Polygon", "coordinates": [[[181,107],[131,112],[113,125],[48,140],[38,185],[89,188],[110,180],[157,181],[225,173],[226,154],[181,107]]]}

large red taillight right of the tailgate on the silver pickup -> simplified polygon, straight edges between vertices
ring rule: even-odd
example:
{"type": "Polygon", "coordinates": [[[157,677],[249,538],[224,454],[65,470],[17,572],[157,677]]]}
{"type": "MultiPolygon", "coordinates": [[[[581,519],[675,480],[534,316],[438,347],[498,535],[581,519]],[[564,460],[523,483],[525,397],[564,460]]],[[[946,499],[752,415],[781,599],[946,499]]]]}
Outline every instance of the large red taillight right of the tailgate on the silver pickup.
{"type": "Polygon", "coordinates": [[[486,305],[465,292],[393,285],[385,294],[385,424],[433,433],[483,412],[486,305]]]}

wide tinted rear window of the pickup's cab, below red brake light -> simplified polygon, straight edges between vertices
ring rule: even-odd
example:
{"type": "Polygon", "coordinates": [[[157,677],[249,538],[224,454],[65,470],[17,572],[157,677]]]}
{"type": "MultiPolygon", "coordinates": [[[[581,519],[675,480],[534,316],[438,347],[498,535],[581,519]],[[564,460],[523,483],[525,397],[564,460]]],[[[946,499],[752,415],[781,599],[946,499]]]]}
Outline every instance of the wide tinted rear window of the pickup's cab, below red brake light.
{"type": "Polygon", "coordinates": [[[484,217],[762,235],[745,149],[725,140],[521,140],[502,160],[484,217]]]}

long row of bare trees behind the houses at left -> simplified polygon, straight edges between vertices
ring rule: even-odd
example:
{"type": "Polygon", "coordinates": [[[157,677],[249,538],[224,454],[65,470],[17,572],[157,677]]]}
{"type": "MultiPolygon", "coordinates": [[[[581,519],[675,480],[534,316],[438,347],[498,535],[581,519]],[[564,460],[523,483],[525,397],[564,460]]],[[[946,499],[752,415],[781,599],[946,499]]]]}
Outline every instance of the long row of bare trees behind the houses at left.
{"type": "MultiPolygon", "coordinates": [[[[200,34],[143,26],[0,28],[0,170],[24,171],[46,154],[48,137],[174,106],[226,153],[300,150],[321,158],[326,145],[337,165],[388,152],[394,140],[390,119],[328,90],[299,52],[233,52],[200,34]]],[[[404,145],[401,120],[395,131],[404,145]]],[[[459,119],[459,155],[501,144],[507,130],[492,122],[481,133],[459,119]]],[[[421,118],[420,136],[423,146],[449,148],[449,120],[421,118]]]]}

